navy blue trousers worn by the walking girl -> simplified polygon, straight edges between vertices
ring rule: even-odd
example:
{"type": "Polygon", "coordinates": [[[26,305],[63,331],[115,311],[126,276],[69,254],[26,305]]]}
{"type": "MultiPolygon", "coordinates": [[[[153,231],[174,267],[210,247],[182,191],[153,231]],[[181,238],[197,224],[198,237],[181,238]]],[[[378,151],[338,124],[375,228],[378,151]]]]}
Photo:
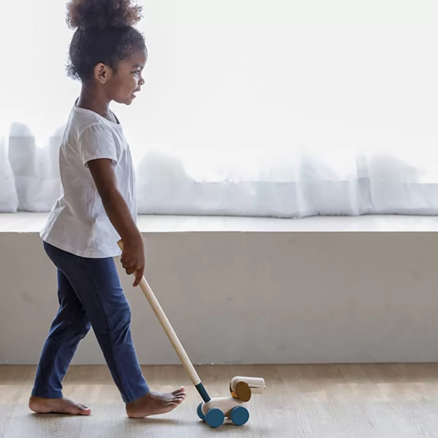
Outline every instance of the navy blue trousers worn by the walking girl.
{"type": "Polygon", "coordinates": [[[79,341],[93,328],[125,403],[149,392],[131,338],[131,310],[112,258],[84,258],[44,242],[57,268],[59,309],[44,343],[32,395],[61,398],[79,341]]]}

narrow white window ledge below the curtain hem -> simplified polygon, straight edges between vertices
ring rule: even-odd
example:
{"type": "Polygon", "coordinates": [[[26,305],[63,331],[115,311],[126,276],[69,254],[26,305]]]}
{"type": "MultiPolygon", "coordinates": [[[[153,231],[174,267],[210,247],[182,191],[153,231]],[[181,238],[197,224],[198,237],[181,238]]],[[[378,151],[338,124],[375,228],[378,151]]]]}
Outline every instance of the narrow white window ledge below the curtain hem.
{"type": "MultiPolygon", "coordinates": [[[[47,213],[2,213],[0,232],[39,233],[47,213]]],[[[359,216],[312,217],[304,219],[241,218],[210,216],[139,216],[143,233],[432,233],[438,231],[438,217],[359,216]]]]}

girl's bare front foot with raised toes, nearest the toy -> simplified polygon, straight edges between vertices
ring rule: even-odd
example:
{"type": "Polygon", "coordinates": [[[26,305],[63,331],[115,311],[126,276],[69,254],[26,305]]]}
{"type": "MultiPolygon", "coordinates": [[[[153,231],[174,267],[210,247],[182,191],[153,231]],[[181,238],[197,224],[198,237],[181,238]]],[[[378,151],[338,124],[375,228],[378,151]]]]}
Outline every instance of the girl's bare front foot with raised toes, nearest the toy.
{"type": "Polygon", "coordinates": [[[132,403],[127,403],[126,413],[129,418],[143,418],[149,415],[166,414],[180,405],[185,399],[185,388],[182,386],[173,392],[150,391],[132,403]]]}

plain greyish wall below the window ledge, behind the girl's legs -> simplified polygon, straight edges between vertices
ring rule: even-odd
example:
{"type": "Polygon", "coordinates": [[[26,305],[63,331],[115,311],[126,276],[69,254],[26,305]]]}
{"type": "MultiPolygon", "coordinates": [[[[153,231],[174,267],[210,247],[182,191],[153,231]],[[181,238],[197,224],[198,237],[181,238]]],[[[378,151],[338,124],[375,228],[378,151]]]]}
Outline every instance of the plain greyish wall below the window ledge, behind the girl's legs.
{"type": "MultiPolygon", "coordinates": [[[[306,219],[305,219],[306,220],[306,219]]],[[[437,361],[436,233],[145,234],[147,273],[194,363],[437,361]]],[[[35,364],[56,311],[36,233],[0,233],[0,363],[35,364]]],[[[143,364],[177,363],[129,287],[143,364]]],[[[75,363],[103,363],[90,335],[75,363]]]]}

